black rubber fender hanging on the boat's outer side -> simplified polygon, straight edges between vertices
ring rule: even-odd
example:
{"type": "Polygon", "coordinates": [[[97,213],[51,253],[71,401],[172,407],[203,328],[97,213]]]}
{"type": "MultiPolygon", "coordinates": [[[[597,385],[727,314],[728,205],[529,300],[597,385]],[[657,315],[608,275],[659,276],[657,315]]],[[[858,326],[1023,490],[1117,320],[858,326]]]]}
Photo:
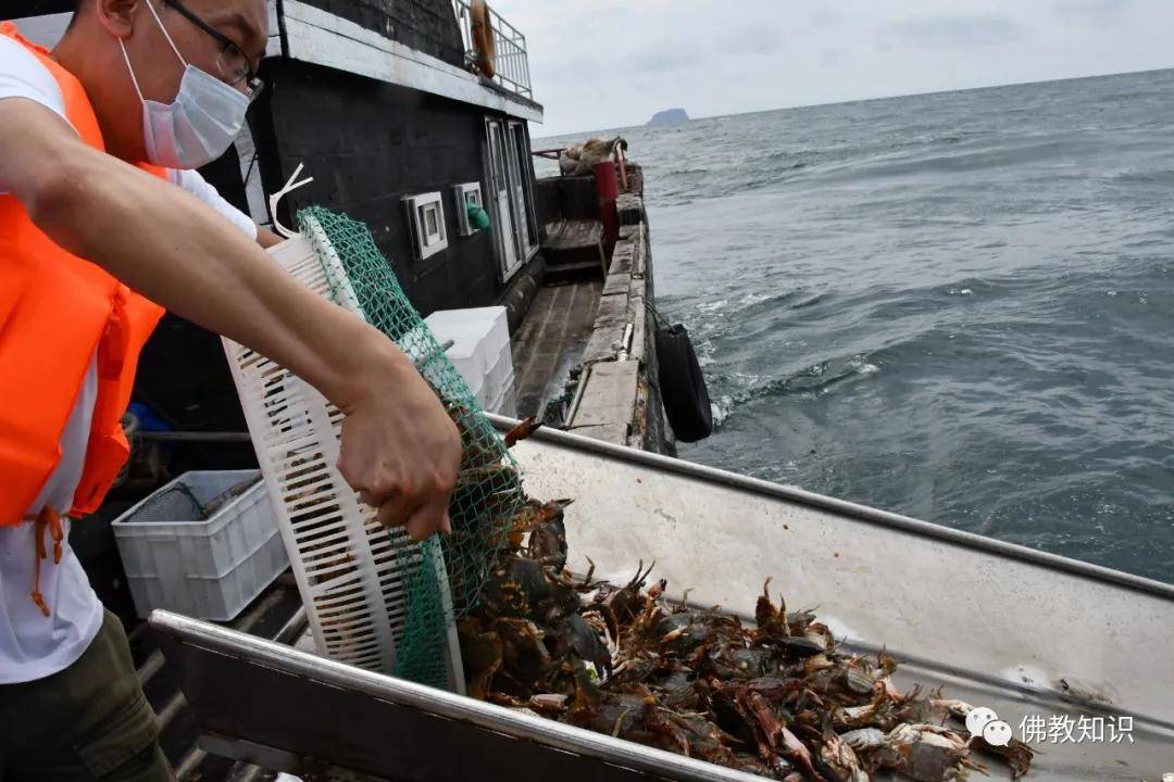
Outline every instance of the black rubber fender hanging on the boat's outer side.
{"type": "Polygon", "coordinates": [[[681,442],[697,442],[714,431],[706,376],[684,326],[656,329],[656,361],[660,365],[661,400],[673,434],[681,442]]]}

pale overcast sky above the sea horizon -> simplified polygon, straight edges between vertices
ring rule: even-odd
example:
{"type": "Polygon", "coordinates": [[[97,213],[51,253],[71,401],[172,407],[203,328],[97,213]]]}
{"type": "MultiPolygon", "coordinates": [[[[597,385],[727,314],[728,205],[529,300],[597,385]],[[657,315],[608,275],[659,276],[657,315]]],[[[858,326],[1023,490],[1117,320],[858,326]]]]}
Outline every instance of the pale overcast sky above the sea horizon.
{"type": "Polygon", "coordinates": [[[494,0],[534,135],[1174,67],[1174,0],[494,0]]]}

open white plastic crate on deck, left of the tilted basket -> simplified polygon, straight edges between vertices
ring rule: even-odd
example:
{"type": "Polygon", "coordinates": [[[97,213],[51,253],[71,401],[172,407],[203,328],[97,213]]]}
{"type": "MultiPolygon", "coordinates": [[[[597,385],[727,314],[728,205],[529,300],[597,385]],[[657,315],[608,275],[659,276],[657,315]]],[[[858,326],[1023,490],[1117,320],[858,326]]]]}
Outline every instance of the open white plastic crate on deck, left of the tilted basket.
{"type": "Polygon", "coordinates": [[[289,566],[258,470],[184,472],[116,518],[112,529],[140,617],[167,608],[236,618],[289,566]],[[211,517],[207,505],[255,482],[211,517]]]}

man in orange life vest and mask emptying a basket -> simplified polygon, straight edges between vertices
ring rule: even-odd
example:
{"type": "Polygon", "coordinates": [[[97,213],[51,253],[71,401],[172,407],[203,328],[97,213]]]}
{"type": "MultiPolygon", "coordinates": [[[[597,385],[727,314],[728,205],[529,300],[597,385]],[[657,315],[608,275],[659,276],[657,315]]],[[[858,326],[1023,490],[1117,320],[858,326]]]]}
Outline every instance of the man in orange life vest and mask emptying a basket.
{"type": "Polygon", "coordinates": [[[262,87],[265,5],[81,0],[52,53],[0,29],[4,782],[171,778],[122,627],[68,545],[68,517],[126,460],[119,419],[160,305],[342,409],[339,469],[383,523],[447,529],[459,436],[411,361],[183,172],[228,148],[262,87]]]}

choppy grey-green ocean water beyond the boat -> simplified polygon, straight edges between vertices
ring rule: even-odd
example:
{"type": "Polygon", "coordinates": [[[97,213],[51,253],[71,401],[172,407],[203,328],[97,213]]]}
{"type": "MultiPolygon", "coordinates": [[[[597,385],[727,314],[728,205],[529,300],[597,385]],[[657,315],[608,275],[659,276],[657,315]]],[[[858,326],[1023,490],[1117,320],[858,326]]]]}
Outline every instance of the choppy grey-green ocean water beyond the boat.
{"type": "Polygon", "coordinates": [[[621,132],[683,458],[1174,583],[1174,70],[621,132]]]}

